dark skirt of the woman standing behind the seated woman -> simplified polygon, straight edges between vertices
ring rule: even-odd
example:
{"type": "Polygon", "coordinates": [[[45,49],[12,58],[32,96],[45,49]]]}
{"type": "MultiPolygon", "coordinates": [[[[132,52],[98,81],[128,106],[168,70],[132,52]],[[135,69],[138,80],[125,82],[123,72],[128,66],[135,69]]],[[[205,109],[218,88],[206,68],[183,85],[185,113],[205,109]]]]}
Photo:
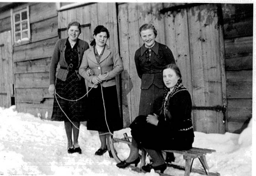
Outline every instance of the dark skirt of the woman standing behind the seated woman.
{"type": "Polygon", "coordinates": [[[164,89],[159,89],[154,84],[152,84],[149,89],[141,89],[139,115],[148,116],[148,114],[158,114],[162,106],[163,94],[164,89]]]}

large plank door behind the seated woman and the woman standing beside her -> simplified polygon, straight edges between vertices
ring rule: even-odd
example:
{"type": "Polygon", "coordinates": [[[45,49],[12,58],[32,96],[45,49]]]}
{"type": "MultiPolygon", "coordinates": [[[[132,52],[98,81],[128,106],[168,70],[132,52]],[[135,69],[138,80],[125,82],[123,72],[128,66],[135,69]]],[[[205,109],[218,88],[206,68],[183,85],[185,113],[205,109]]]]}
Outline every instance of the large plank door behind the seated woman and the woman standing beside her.
{"type": "Polygon", "coordinates": [[[119,4],[118,22],[120,53],[125,67],[122,73],[124,119],[133,121],[138,116],[141,80],[134,54],[142,46],[139,27],[152,23],[158,31],[156,40],[174,53],[184,86],[191,93],[195,130],[224,133],[224,47],[218,6],[179,5],[175,8],[175,4],[119,4]]]}

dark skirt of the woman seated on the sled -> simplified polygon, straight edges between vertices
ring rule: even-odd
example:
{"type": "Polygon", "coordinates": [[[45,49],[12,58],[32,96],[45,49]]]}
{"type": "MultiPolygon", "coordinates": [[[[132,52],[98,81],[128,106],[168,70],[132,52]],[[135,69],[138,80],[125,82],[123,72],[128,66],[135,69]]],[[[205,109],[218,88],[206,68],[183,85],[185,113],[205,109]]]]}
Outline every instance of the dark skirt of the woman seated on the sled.
{"type": "Polygon", "coordinates": [[[129,126],[131,135],[139,147],[152,150],[189,150],[192,148],[194,137],[179,136],[175,131],[159,128],[147,123],[147,116],[138,116],[129,126]]]}

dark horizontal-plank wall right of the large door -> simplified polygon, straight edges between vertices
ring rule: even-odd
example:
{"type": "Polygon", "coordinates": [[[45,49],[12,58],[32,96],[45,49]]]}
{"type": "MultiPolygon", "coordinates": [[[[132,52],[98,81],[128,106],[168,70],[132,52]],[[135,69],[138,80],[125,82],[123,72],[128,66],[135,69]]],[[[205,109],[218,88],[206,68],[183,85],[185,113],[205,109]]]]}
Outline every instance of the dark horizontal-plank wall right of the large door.
{"type": "Polygon", "coordinates": [[[253,4],[222,4],[222,13],[228,132],[241,133],[252,117],[253,4]]]}

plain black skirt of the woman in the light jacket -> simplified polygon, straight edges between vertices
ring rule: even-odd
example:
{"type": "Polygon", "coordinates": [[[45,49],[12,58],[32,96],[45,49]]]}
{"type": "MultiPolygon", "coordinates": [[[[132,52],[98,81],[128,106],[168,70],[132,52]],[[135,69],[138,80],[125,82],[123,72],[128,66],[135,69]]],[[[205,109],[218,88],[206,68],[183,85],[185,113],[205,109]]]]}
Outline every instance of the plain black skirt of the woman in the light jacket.
{"type": "Polygon", "coordinates": [[[110,130],[111,133],[112,131],[121,130],[123,121],[118,106],[117,86],[102,87],[104,101],[102,99],[101,84],[97,88],[89,87],[89,90],[87,129],[103,132],[109,132],[110,130]]]}

